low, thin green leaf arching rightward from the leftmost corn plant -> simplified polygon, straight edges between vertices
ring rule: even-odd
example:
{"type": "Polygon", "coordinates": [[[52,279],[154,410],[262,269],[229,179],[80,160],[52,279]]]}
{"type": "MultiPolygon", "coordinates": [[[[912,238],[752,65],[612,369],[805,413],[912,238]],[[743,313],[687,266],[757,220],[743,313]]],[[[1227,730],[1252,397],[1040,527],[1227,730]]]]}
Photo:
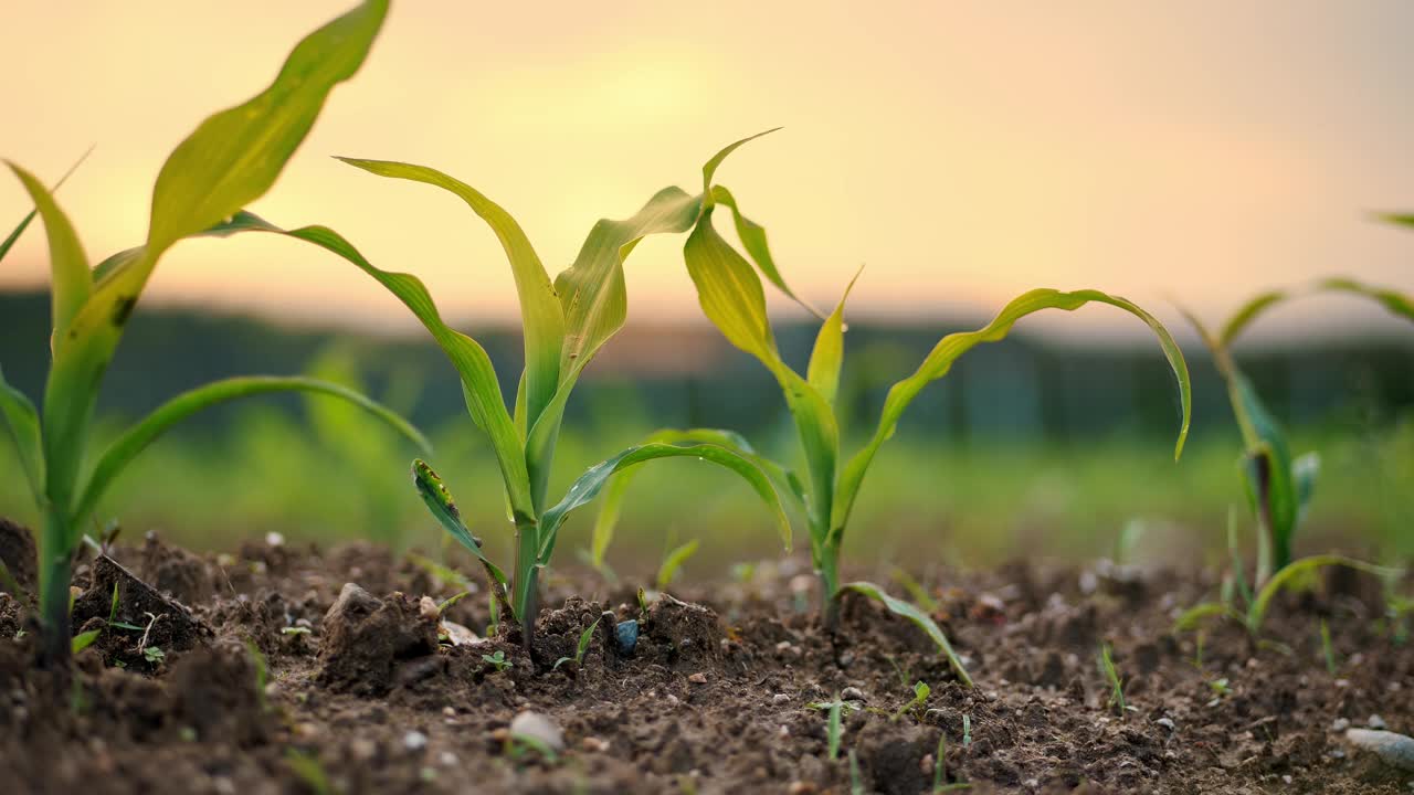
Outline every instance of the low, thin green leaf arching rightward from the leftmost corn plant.
{"type": "Polygon", "coordinates": [[[93,467],[93,472],[88,478],[83,495],[78,502],[78,509],[75,511],[76,521],[74,525],[82,526],[82,519],[98,506],[98,501],[103,497],[103,492],[107,489],[113,478],[116,478],[117,474],[123,471],[123,467],[137,457],[139,453],[146,450],[148,444],[165,433],[167,429],[191,414],[218,403],[252,395],[266,395],[270,392],[317,392],[341,398],[383,420],[423,450],[430,450],[427,439],[407,420],[382,405],[365,398],[363,395],[348,389],[346,386],[305,376],[256,375],[228,378],[205,386],[198,386],[197,389],[173,398],[154,409],[143,419],[143,422],[137,423],[113,441],[113,444],[110,444],[98,460],[98,464],[93,467]]]}

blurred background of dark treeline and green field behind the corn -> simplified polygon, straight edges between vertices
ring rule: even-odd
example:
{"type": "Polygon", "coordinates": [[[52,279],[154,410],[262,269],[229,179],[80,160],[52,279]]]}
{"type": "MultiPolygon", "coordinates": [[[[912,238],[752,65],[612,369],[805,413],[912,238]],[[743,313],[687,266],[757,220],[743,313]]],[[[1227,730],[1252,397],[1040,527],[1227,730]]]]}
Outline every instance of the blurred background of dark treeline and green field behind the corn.
{"type": "MultiPolygon", "coordinates": [[[[7,318],[0,361],[6,376],[34,396],[47,366],[47,313],[41,294],[0,294],[7,318]]],[[[851,328],[844,412],[855,433],[872,429],[888,383],[916,366],[942,332],[977,320],[851,328]]],[[[803,324],[781,330],[788,358],[805,355],[810,334],[803,324]]],[[[516,372],[513,332],[478,337],[498,365],[509,365],[505,372],[516,372]]],[[[1227,511],[1243,499],[1234,468],[1239,440],[1210,365],[1196,345],[1188,354],[1193,436],[1176,464],[1178,409],[1157,348],[1053,344],[1021,334],[970,354],[925,393],[884,448],[861,497],[847,560],[981,566],[1024,550],[1217,562],[1227,511]]],[[[1295,450],[1324,455],[1299,546],[1384,560],[1414,553],[1414,497],[1401,485],[1414,482],[1414,345],[1398,337],[1319,345],[1294,338],[1287,347],[1247,349],[1243,361],[1292,424],[1295,450]]],[[[551,491],[665,424],[735,427],[758,447],[789,455],[789,417],[759,371],[710,328],[631,323],[571,402],[554,475],[561,485],[551,491]]],[[[148,308],[134,318],[109,375],[102,416],[132,417],[184,388],[250,372],[317,372],[365,385],[407,412],[431,434],[433,463],[475,532],[509,556],[489,447],[465,416],[451,368],[416,337],[148,308]]],[[[513,383],[503,389],[509,393],[513,383]]],[[[851,441],[847,448],[860,440],[851,441]]],[[[229,549],[267,532],[436,549],[441,532],[409,484],[413,454],[335,402],[247,402],[163,439],[122,477],[102,515],[120,519],[129,538],[158,529],[198,549],[229,549]]],[[[8,446],[0,455],[0,515],[33,522],[8,446]]],[[[587,546],[592,515],[591,508],[570,521],[567,550],[587,546]]],[[[700,576],[779,550],[756,498],[737,478],[670,461],[635,481],[609,560],[624,573],[646,574],[663,550],[691,538],[703,545],[689,573],[700,576]]],[[[797,549],[805,543],[797,526],[797,549]]]]}

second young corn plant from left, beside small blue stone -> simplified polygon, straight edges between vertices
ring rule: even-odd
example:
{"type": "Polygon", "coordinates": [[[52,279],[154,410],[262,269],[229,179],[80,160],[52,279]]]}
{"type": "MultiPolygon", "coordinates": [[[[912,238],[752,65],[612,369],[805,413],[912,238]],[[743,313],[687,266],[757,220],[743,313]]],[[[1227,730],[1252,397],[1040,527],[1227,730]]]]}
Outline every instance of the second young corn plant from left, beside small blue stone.
{"type": "MultiPolygon", "coordinates": [[[[720,151],[713,163],[720,163],[741,143],[744,141],[720,151]]],[[[761,470],[761,463],[732,447],[708,441],[648,441],[629,447],[590,467],[559,502],[551,504],[547,495],[556,441],[570,393],[584,368],[626,320],[624,260],[648,235],[682,233],[697,228],[717,202],[715,194],[704,191],[690,195],[682,188],[665,188],[632,218],[597,222],[574,263],[551,282],[515,218],[471,185],[424,166],[341,160],[379,177],[443,188],[462,199],[491,226],[515,277],[525,337],[525,369],[513,410],[506,410],[495,368],[485,349],[471,337],[443,323],[431,296],[416,276],[373,266],[346,239],[324,226],[286,231],[242,212],[225,229],[287,235],[344,257],[397,296],[447,354],[461,376],[467,409],[489,437],[501,468],[508,513],[516,536],[512,576],[508,577],[502,567],[486,557],[481,540],[462,522],[450,491],[431,467],[420,460],[414,461],[413,482],[438,523],[481,562],[491,590],[499,594],[499,607],[519,622],[522,642],[527,649],[532,648],[539,613],[539,571],[550,563],[560,526],[570,512],[592,501],[614,474],[636,464],[667,457],[693,457],[737,472],[766,502],[789,549],[790,522],[768,474],[761,470]]]]}

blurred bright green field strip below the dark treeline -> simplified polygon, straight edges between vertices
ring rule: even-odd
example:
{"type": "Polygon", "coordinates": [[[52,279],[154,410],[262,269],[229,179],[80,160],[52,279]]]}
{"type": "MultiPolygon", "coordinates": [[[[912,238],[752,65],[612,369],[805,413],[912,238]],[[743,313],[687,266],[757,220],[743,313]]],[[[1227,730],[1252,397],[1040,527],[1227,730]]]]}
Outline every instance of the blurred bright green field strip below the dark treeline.
{"type": "MultiPolygon", "coordinates": [[[[198,549],[226,549],[271,530],[301,540],[436,549],[441,530],[407,474],[414,451],[356,416],[329,414],[342,414],[342,406],[321,402],[310,412],[311,433],[298,414],[252,405],[235,414],[229,431],[164,439],[123,475],[103,516],[119,518],[129,539],[158,529],[198,549]],[[345,420],[355,431],[339,430],[351,427],[341,426],[345,420]]],[[[615,423],[567,433],[559,488],[646,430],[615,423]]],[[[510,526],[488,447],[464,420],[433,436],[436,465],[471,526],[509,556],[510,526]]],[[[1301,546],[1373,552],[1386,560],[1414,553],[1414,499],[1401,485],[1414,482],[1414,426],[1366,436],[1307,430],[1297,434],[1297,448],[1324,454],[1301,546]]],[[[1175,464],[1167,443],[1123,434],[1083,447],[959,447],[905,429],[870,474],[847,559],[980,566],[1021,555],[1120,553],[1216,563],[1227,509],[1241,505],[1234,457],[1236,440],[1219,434],[1199,437],[1175,464]],[[1130,522],[1144,532],[1134,549],[1118,552],[1130,522]]],[[[8,450],[0,471],[18,471],[8,450]]],[[[23,478],[0,480],[0,506],[33,522],[24,488],[23,478]]],[[[592,509],[571,518],[564,536],[571,555],[561,563],[587,547],[591,526],[592,509]]],[[[796,529],[805,549],[803,526],[796,529]]],[[[670,461],[639,474],[609,562],[646,576],[663,550],[690,538],[703,540],[689,566],[700,574],[779,553],[759,502],[738,480],[694,461],[670,461]]]]}

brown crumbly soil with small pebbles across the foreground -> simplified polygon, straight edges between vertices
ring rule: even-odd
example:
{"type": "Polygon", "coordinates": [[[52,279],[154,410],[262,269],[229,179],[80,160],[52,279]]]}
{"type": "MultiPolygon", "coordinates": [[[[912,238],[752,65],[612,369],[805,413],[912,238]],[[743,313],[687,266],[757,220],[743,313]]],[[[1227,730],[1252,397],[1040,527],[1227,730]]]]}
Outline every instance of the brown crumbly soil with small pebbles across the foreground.
{"type": "MultiPolygon", "coordinates": [[[[484,586],[440,610],[468,583],[385,549],[194,555],[148,536],[110,555],[75,571],[75,631],[99,635],[71,676],[34,666],[27,604],[0,594],[4,792],[915,794],[933,791],[939,753],[943,785],[967,792],[1393,794],[1414,779],[1343,740],[1348,724],[1414,730],[1414,648],[1360,576],[1282,597],[1258,642],[1232,622],[1175,634],[1217,593],[1210,573],[935,574],[969,689],[863,597],[824,629],[796,560],[649,594],[646,613],[626,584],[556,573],[527,654],[505,624],[481,639],[484,586]],[[614,631],[628,620],[632,654],[614,631]],[[932,692],[904,709],[916,682],[932,692]],[[812,704],[841,697],[831,758],[829,712],[812,704]]],[[[33,560],[10,563],[33,581],[33,560]]]]}

